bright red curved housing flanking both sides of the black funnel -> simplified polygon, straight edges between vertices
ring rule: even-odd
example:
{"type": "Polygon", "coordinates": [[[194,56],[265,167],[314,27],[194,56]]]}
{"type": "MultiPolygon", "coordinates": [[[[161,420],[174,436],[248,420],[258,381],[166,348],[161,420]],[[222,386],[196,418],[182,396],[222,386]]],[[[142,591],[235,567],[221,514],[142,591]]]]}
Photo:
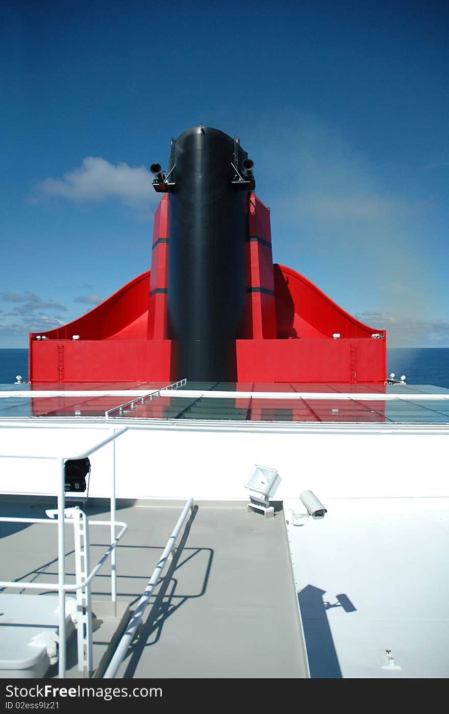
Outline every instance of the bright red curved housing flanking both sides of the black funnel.
{"type": "MultiPolygon", "coordinates": [[[[32,383],[131,386],[183,377],[178,374],[177,343],[168,339],[168,206],[164,195],[154,216],[151,271],[86,315],[40,333],[46,340],[37,341],[31,333],[32,383]],[[73,335],[80,339],[72,340],[73,335]]],[[[385,331],[380,331],[383,339],[372,339],[377,330],[360,323],[300,273],[273,265],[270,213],[254,193],[248,194],[247,216],[248,298],[241,339],[236,340],[238,381],[383,383],[385,331]],[[333,333],[340,333],[340,339],[333,339],[333,333]]]]}

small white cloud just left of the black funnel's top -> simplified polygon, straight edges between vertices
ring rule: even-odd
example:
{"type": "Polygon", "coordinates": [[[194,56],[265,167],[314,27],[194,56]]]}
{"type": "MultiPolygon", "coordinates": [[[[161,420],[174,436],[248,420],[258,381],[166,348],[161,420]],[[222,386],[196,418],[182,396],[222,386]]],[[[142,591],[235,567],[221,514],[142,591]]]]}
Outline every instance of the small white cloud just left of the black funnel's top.
{"type": "Polygon", "coordinates": [[[37,184],[41,196],[56,196],[80,203],[120,201],[131,208],[147,208],[156,203],[153,177],[145,166],[117,165],[99,156],[86,156],[81,166],[63,178],[46,178],[37,184]]]}

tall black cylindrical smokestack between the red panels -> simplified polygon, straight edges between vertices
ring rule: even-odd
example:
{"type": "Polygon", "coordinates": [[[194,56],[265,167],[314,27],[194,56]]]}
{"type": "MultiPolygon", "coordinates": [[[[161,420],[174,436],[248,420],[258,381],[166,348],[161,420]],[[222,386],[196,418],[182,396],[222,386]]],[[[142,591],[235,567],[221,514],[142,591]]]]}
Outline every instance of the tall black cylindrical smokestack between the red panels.
{"type": "Polygon", "coordinates": [[[247,178],[247,156],[238,140],[201,125],[172,143],[168,316],[171,339],[179,343],[179,376],[190,381],[237,379],[251,188],[240,181],[247,178]]]}

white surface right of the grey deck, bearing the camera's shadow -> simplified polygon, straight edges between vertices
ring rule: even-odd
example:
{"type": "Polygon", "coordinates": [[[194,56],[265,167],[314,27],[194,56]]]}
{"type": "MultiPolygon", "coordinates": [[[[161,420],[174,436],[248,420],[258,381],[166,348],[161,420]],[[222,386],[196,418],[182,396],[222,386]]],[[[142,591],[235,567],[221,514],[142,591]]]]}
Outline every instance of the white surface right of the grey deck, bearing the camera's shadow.
{"type": "Polygon", "coordinates": [[[447,678],[449,498],[318,497],[288,525],[311,676],[447,678]]]}

